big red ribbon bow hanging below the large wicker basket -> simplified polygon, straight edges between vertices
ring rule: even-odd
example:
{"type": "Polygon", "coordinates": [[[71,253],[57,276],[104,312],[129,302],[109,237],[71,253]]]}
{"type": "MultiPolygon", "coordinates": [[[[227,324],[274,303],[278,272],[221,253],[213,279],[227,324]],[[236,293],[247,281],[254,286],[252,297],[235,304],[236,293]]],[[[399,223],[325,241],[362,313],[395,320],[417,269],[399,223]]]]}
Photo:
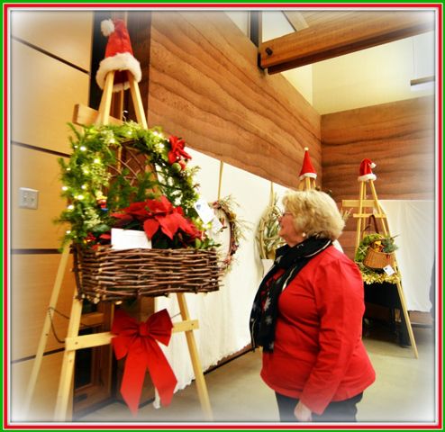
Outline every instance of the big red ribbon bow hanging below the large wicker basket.
{"type": "Polygon", "coordinates": [[[145,322],[138,322],[121,310],[114,312],[112,333],[118,336],[112,338],[112,345],[118,360],[127,356],[121,392],[133,415],[138,412],[146,369],[149,369],[162,405],[168,405],[173,397],[177,379],[156,342],[157,339],[168,346],[172,328],[165,309],[154,313],[145,322]]]}

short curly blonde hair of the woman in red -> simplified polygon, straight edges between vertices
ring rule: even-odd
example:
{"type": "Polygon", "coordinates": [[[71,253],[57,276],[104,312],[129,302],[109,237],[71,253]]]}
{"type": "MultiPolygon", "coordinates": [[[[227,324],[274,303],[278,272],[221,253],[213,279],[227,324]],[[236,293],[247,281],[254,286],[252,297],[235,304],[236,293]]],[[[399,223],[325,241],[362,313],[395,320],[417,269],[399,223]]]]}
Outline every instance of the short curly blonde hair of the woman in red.
{"type": "Polygon", "coordinates": [[[286,212],[292,213],[294,228],[307,237],[340,237],[345,222],[335,201],[327,193],[310,190],[286,193],[283,198],[286,212]]]}

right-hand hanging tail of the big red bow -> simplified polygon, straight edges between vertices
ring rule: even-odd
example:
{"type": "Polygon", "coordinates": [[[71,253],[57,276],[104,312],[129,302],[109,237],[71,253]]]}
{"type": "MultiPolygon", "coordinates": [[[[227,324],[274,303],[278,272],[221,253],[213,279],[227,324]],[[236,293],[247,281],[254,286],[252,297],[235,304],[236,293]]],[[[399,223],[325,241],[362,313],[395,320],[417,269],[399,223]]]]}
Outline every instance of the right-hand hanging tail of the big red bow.
{"type": "Polygon", "coordinates": [[[173,398],[177,386],[177,377],[173,373],[168,360],[155,340],[148,340],[151,356],[147,356],[151,381],[159,392],[162,405],[167,406],[173,398]]]}

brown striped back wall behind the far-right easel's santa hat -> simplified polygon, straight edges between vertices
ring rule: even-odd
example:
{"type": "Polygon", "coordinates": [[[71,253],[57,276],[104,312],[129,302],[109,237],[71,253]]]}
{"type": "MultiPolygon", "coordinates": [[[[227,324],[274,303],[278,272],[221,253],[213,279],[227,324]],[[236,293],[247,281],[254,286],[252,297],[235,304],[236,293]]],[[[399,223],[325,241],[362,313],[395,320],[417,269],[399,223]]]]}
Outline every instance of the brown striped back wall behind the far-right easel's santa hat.
{"type": "MultiPolygon", "coordinates": [[[[322,189],[337,202],[359,198],[359,164],[365,157],[380,200],[434,198],[434,100],[432,96],[322,116],[322,189]]],[[[341,245],[352,257],[355,220],[341,245]]]]}

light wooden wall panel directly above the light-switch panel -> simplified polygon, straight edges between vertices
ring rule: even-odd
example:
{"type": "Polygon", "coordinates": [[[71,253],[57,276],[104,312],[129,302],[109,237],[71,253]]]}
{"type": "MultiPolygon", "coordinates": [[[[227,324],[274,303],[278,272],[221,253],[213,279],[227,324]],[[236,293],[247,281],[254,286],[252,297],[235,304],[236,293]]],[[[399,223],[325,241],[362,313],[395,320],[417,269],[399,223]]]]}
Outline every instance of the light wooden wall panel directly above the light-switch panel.
{"type": "Polygon", "coordinates": [[[67,122],[88,104],[89,76],[15,40],[11,69],[12,139],[68,153],[67,122]]]}

